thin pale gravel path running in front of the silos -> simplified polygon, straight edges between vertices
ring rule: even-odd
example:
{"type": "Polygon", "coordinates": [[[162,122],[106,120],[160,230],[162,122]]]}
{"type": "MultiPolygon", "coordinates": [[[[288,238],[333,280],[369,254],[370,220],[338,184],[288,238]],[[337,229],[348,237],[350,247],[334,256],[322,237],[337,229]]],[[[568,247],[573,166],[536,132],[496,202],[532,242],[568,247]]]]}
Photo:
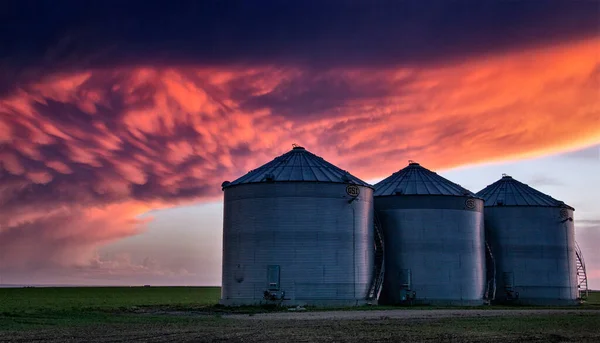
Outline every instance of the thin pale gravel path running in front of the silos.
{"type": "Polygon", "coordinates": [[[578,309],[528,309],[528,310],[373,310],[373,311],[315,311],[274,312],[259,314],[230,314],[223,318],[245,320],[361,320],[361,319],[435,319],[456,317],[529,316],[551,314],[595,314],[600,321],[600,311],[578,309]]]}

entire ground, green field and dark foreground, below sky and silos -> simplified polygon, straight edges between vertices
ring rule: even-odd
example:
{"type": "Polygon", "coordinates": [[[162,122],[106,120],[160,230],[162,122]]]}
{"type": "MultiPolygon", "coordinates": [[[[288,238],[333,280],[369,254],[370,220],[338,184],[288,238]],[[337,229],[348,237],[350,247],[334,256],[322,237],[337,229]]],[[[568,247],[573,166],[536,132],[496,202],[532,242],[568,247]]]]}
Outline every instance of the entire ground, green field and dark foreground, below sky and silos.
{"type": "Polygon", "coordinates": [[[266,310],[215,306],[219,295],[217,287],[0,289],[0,342],[600,341],[600,311],[580,310],[600,309],[600,292],[591,293],[586,305],[554,314],[479,317],[464,309],[458,317],[360,320],[253,319],[266,310]],[[250,315],[226,316],[234,312],[250,315]]]}

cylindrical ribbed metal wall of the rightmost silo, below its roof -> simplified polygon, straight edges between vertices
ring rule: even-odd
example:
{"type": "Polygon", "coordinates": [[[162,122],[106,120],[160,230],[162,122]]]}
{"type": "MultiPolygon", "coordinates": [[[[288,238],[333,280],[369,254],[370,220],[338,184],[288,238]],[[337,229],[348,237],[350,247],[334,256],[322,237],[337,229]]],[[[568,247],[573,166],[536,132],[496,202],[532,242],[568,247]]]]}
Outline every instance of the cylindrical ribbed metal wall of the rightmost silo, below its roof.
{"type": "Polygon", "coordinates": [[[574,303],[575,230],[569,217],[573,218],[569,208],[485,208],[486,236],[496,259],[499,300],[504,293],[504,273],[513,273],[512,282],[520,302],[574,303]]]}

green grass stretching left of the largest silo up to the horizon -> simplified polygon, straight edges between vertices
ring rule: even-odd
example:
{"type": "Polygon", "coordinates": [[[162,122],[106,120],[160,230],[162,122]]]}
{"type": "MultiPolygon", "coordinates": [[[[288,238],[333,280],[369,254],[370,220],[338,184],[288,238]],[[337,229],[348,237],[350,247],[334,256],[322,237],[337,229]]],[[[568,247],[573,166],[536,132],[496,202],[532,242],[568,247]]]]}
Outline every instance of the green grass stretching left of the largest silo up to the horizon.
{"type": "MultiPolygon", "coordinates": [[[[148,309],[214,306],[219,287],[0,288],[0,330],[169,321],[148,309]]],[[[175,320],[175,319],[174,319],[175,320]]]]}

